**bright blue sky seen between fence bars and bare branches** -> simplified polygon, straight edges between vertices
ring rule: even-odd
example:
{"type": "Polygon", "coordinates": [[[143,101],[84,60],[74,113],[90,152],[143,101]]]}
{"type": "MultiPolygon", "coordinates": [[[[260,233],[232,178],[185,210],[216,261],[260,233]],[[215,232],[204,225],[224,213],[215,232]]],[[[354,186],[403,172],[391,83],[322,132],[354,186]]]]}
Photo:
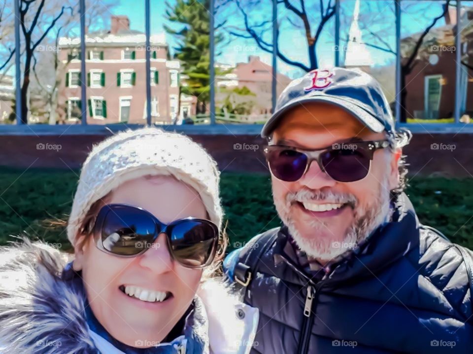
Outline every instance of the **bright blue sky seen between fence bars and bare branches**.
{"type": "MultiPolygon", "coordinates": [[[[169,2],[173,2],[169,0],[169,2]]],[[[270,1],[261,1],[262,5],[257,11],[253,11],[250,14],[251,18],[265,18],[270,20],[270,1]],[[266,16],[266,17],[265,17],[266,16]]],[[[306,0],[306,3],[313,1],[306,0]]],[[[318,3],[318,1],[316,1],[318,3]]],[[[394,36],[394,14],[392,11],[392,0],[378,0],[377,6],[372,7],[373,4],[367,4],[369,1],[361,2],[361,16],[365,16],[363,21],[369,24],[369,30],[373,32],[382,31],[383,39],[385,39],[392,47],[395,46],[394,36]],[[371,10],[370,15],[366,15],[371,10]],[[382,13],[376,13],[375,10],[382,10],[382,13]]],[[[473,3],[473,1],[471,1],[473,3]]],[[[113,9],[114,14],[126,14],[130,18],[131,27],[133,29],[144,31],[144,1],[139,0],[119,0],[117,5],[113,9]]],[[[424,29],[431,21],[431,19],[441,13],[442,1],[418,1],[405,0],[402,2],[403,9],[403,35],[414,33],[424,29]]],[[[342,1],[342,19],[341,19],[341,33],[340,38],[346,38],[348,28],[351,23],[354,0],[343,0],[342,1]]],[[[232,6],[232,5],[229,5],[232,6]]],[[[163,24],[165,23],[165,1],[151,1],[151,32],[159,33],[163,32],[163,24]]],[[[280,50],[293,60],[298,60],[307,63],[307,49],[304,39],[304,31],[302,29],[295,29],[288,22],[287,18],[291,16],[290,12],[283,8],[278,7],[278,22],[280,23],[280,37],[279,46],[280,50]]],[[[380,11],[381,12],[381,11],[380,11]]],[[[229,11],[223,16],[227,19],[227,23],[230,23],[233,27],[242,28],[242,16],[238,13],[236,7],[229,7],[229,11]],[[229,15],[230,14],[230,15],[229,15]]],[[[222,17],[222,16],[221,16],[222,17]]],[[[312,13],[309,12],[311,22],[316,23],[319,19],[319,11],[314,9],[312,13]]],[[[292,17],[292,19],[294,19],[292,17]]],[[[218,22],[219,15],[217,15],[216,22],[218,22]]],[[[327,25],[324,29],[317,46],[317,56],[320,66],[333,65],[334,63],[334,21],[327,25]]],[[[441,20],[438,23],[440,26],[444,25],[444,21],[441,20]]],[[[314,26],[315,27],[315,26],[314,26]]],[[[314,31],[315,29],[313,29],[314,31]]],[[[221,54],[216,58],[218,62],[236,64],[236,62],[247,61],[249,55],[258,55],[263,61],[271,63],[271,55],[261,50],[253,39],[242,39],[233,36],[227,37],[228,39],[224,44],[219,46],[221,54]]],[[[270,31],[268,36],[265,37],[267,40],[271,40],[270,31]]],[[[363,40],[373,40],[368,34],[367,30],[363,31],[363,40]]],[[[167,41],[170,46],[175,45],[175,40],[172,36],[167,34],[167,41]]],[[[343,42],[342,42],[343,44],[343,42]]],[[[395,59],[394,55],[369,48],[372,58],[377,65],[386,65],[392,63],[395,59]]],[[[294,66],[287,65],[281,60],[278,60],[278,71],[281,71],[291,77],[297,76],[301,71],[294,66]]]]}

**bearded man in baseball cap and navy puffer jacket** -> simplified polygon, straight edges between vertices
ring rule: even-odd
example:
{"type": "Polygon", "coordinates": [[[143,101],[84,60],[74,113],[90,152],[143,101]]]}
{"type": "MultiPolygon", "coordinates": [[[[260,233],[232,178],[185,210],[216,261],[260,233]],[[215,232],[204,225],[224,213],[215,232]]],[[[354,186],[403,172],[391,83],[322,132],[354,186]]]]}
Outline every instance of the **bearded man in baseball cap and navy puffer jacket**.
{"type": "Polygon", "coordinates": [[[284,226],[224,267],[260,310],[251,353],[473,353],[473,253],[422,225],[380,85],[314,70],[262,136],[284,226]]]}

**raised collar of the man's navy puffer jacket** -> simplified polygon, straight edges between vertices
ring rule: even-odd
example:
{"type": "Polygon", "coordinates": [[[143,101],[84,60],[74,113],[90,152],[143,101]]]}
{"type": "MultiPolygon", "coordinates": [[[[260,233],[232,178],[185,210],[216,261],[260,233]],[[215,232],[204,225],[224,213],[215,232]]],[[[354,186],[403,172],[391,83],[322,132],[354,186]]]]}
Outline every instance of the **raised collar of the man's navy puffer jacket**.
{"type": "MultiPolygon", "coordinates": [[[[332,267],[324,283],[338,283],[358,281],[360,278],[370,277],[381,269],[395,263],[409,250],[419,244],[420,223],[415,214],[414,207],[402,193],[395,200],[392,220],[373,231],[363,249],[357,253],[349,253],[332,267]]],[[[304,284],[312,282],[312,277],[304,272],[301,266],[288,259],[284,247],[288,241],[286,227],[280,229],[274,248],[275,263],[284,261],[302,278],[304,284]]]]}

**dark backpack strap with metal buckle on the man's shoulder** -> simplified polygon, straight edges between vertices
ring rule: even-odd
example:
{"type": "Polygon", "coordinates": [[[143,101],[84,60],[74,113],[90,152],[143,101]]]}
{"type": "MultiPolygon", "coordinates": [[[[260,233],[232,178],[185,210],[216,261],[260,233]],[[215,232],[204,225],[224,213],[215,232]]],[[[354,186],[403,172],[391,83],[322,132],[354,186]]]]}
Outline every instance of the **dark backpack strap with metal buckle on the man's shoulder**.
{"type": "Polygon", "coordinates": [[[270,230],[262,235],[254,237],[244,247],[248,247],[248,251],[242,256],[236,264],[234,270],[235,281],[243,287],[250,284],[253,275],[256,274],[260,256],[272,246],[276,240],[278,231],[270,230]]]}

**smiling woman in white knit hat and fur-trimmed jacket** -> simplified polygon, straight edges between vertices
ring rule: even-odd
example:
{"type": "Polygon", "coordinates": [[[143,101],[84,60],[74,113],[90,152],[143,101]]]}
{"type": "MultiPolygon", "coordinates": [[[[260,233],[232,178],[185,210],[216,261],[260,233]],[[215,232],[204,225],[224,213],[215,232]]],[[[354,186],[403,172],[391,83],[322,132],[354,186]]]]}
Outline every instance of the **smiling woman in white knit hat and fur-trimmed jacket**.
{"type": "Polygon", "coordinates": [[[68,220],[74,257],[0,254],[0,353],[249,353],[258,310],[216,278],[219,172],[189,138],[127,131],[85,161],[68,220]]]}

